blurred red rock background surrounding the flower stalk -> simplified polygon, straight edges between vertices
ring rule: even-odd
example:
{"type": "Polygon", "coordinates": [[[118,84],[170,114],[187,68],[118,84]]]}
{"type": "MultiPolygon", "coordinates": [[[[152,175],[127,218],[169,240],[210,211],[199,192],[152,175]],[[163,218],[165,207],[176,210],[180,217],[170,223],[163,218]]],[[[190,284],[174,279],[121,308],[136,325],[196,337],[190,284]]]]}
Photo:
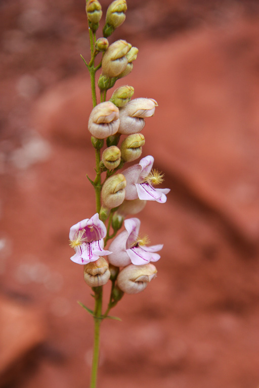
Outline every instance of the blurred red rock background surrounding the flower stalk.
{"type": "MultiPolygon", "coordinates": [[[[68,231],[94,213],[84,2],[0,11],[0,386],[83,388],[93,322],[76,302],[93,300],[68,231]]],[[[140,50],[118,85],[158,101],[143,156],[171,192],[140,215],[158,277],[103,323],[99,387],[257,388],[259,4],[129,0],[111,38],[140,50]]]]}

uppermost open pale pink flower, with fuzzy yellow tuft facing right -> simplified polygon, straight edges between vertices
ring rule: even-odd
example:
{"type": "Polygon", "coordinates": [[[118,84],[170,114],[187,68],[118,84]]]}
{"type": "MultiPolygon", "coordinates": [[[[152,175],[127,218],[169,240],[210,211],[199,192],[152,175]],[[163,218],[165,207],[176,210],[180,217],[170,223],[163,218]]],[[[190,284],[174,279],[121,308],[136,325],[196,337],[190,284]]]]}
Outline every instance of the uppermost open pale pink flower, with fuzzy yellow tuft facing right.
{"type": "Polygon", "coordinates": [[[163,174],[157,170],[152,170],[154,163],[153,156],[149,155],[141,159],[139,164],[128,167],[123,171],[126,178],[125,200],[156,201],[161,204],[166,202],[166,194],[169,188],[154,188],[156,184],[163,181],[163,174]]]}

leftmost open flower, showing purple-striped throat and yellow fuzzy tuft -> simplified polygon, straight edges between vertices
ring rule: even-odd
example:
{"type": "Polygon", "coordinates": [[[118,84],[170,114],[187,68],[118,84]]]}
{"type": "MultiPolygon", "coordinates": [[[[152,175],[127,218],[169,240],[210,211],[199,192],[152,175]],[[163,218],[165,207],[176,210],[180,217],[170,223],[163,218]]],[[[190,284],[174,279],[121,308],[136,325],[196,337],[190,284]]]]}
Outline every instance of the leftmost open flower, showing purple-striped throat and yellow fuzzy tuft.
{"type": "Polygon", "coordinates": [[[74,248],[75,254],[70,259],[77,264],[88,264],[100,256],[109,255],[110,251],[103,250],[105,236],[106,227],[98,213],[73,225],[69,232],[69,245],[74,248]]]}

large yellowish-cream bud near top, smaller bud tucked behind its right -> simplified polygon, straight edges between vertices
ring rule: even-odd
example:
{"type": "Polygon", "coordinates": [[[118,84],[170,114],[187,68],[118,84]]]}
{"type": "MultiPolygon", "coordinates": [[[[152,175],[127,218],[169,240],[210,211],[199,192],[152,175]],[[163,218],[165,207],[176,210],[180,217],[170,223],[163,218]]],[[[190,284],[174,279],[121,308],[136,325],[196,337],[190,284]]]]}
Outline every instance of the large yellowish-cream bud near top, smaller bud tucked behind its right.
{"type": "Polygon", "coordinates": [[[112,43],[102,59],[102,74],[108,78],[117,77],[127,66],[126,54],[131,49],[131,44],[125,40],[116,40],[112,43]]]}

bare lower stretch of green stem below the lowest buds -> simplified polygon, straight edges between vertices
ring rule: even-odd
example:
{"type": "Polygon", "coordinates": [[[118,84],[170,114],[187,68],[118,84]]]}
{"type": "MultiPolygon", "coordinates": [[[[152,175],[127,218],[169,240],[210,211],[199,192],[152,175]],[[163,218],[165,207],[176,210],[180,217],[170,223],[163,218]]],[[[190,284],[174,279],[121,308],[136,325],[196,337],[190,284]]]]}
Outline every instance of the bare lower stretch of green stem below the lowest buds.
{"type": "Polygon", "coordinates": [[[94,287],[95,292],[95,328],[94,328],[94,353],[92,361],[92,373],[90,388],[96,388],[97,372],[98,372],[98,361],[99,361],[99,350],[100,350],[100,325],[102,322],[102,298],[103,298],[103,287],[94,287]]]}

